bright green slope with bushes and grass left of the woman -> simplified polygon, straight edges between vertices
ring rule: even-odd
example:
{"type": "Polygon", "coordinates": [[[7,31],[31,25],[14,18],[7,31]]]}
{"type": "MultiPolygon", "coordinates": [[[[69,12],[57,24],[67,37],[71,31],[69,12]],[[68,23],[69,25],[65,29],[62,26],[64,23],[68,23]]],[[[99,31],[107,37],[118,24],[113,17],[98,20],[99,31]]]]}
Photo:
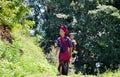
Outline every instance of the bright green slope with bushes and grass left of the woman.
{"type": "Polygon", "coordinates": [[[0,77],[43,77],[57,73],[44,57],[36,37],[29,35],[34,21],[26,19],[28,8],[21,0],[0,1],[0,77]]]}

